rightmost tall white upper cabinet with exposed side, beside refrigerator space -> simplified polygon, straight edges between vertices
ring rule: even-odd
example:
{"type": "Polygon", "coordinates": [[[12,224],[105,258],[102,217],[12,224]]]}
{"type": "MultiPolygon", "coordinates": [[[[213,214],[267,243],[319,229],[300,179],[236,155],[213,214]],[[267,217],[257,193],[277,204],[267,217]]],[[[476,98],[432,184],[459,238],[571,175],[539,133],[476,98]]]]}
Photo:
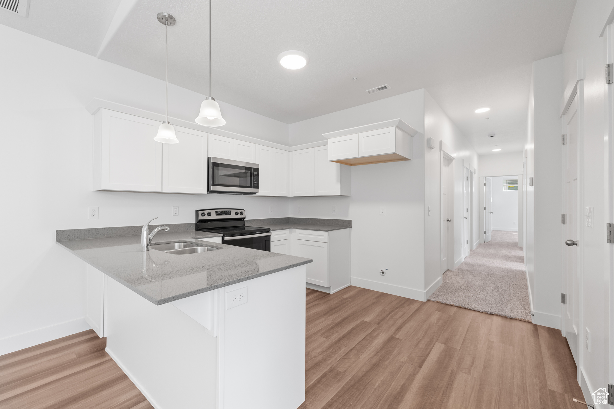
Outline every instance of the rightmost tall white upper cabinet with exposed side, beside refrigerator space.
{"type": "Polygon", "coordinates": [[[350,167],[328,161],[328,145],[315,150],[315,196],[349,196],[350,167]]]}

